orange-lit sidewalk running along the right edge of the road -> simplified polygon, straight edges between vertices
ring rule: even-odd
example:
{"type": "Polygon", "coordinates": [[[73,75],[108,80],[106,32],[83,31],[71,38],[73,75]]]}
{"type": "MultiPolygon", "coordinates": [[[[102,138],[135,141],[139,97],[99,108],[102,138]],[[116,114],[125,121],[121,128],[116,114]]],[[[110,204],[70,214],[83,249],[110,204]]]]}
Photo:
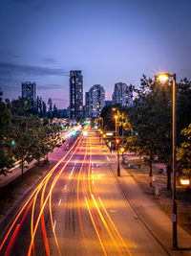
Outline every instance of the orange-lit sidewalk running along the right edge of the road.
{"type": "MultiPolygon", "coordinates": [[[[104,149],[106,150],[106,149],[104,149]]],[[[109,155],[113,155],[107,150],[109,155]]],[[[172,250],[172,221],[159,208],[159,205],[149,198],[132,175],[120,165],[120,176],[117,177],[117,163],[111,163],[111,169],[117,178],[117,183],[124,197],[131,205],[138,219],[155,236],[172,255],[191,255],[191,236],[178,225],[178,246],[180,250],[172,250]]]]}

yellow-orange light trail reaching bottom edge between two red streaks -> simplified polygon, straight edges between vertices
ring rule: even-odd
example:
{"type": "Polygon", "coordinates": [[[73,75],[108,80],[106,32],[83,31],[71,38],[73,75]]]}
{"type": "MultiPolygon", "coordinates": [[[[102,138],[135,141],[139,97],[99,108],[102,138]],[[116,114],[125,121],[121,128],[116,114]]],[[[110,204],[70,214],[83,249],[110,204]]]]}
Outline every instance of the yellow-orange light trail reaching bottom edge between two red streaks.
{"type": "MultiPolygon", "coordinates": [[[[81,138],[81,139],[82,139],[82,138],[81,138]]],[[[80,139],[80,141],[81,141],[81,139],[80,139]]],[[[54,179],[53,179],[52,186],[51,186],[51,189],[50,189],[50,191],[49,191],[49,194],[48,194],[47,198],[46,198],[45,201],[44,201],[44,204],[43,204],[43,206],[42,206],[42,208],[41,208],[41,210],[40,210],[40,213],[39,213],[39,215],[38,215],[37,221],[36,221],[36,223],[35,223],[35,227],[34,227],[34,230],[33,230],[33,236],[32,236],[32,240],[31,240],[31,244],[30,244],[30,248],[29,248],[29,251],[28,251],[28,256],[30,256],[31,253],[32,253],[32,244],[33,244],[33,241],[34,241],[34,237],[35,237],[35,234],[36,234],[36,230],[37,230],[37,227],[38,227],[38,223],[39,223],[39,221],[40,221],[40,218],[41,218],[41,215],[42,215],[42,213],[43,213],[43,211],[44,211],[44,208],[45,208],[45,206],[46,206],[46,204],[47,204],[47,201],[48,201],[48,199],[50,198],[50,195],[53,193],[53,187],[54,187],[55,183],[57,182],[58,178],[60,177],[60,175],[63,173],[63,171],[64,171],[64,169],[66,168],[66,166],[68,165],[68,163],[71,161],[71,159],[72,159],[72,157],[74,156],[74,153],[75,153],[76,150],[77,150],[77,149],[75,148],[73,154],[70,156],[70,158],[67,160],[67,162],[64,164],[64,166],[63,166],[63,167],[61,168],[61,170],[59,171],[59,173],[58,173],[58,174],[54,177],[54,179]]]]}

